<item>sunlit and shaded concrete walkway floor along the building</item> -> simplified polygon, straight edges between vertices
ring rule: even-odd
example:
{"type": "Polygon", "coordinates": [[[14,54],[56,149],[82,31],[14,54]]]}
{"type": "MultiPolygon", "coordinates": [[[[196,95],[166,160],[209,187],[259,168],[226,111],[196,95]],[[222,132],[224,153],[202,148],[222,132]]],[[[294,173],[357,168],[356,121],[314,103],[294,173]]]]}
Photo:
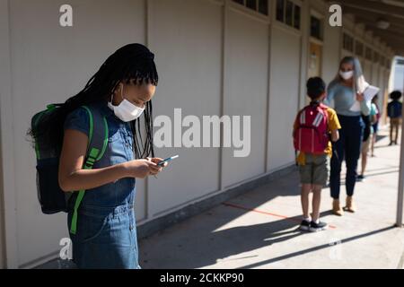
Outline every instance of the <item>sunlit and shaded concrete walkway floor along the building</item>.
{"type": "MultiPolygon", "coordinates": [[[[387,135],[384,133],[384,135],[387,135]]],[[[139,242],[143,268],[402,268],[404,229],[394,228],[400,146],[385,136],[357,183],[357,213],[321,217],[329,230],[296,230],[301,221],[297,172],[251,190],[139,242]]],[[[345,200],[341,187],[341,200],[345,200]]]]}

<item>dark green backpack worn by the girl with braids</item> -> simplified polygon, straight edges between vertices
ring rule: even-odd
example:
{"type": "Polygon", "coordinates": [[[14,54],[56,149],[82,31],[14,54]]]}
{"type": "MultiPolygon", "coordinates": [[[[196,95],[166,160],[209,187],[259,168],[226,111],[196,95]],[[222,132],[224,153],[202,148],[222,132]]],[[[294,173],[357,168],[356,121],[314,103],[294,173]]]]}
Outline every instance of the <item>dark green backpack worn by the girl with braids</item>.
{"type": "MultiPolygon", "coordinates": [[[[47,109],[40,111],[31,118],[31,128],[40,123],[40,119],[47,117],[57,110],[61,104],[50,104],[47,109]]],[[[89,116],[89,144],[83,164],[83,169],[91,170],[96,161],[100,161],[108,144],[107,119],[100,113],[99,109],[92,109],[90,106],[83,106],[89,116]]],[[[35,137],[35,135],[34,135],[35,137]]],[[[64,192],[58,183],[58,169],[61,147],[43,146],[35,142],[37,158],[37,192],[42,213],[53,214],[69,212],[70,202],[75,200],[72,224],[70,232],[76,233],[78,208],[83,200],[85,190],[78,193],[64,192]]]]}

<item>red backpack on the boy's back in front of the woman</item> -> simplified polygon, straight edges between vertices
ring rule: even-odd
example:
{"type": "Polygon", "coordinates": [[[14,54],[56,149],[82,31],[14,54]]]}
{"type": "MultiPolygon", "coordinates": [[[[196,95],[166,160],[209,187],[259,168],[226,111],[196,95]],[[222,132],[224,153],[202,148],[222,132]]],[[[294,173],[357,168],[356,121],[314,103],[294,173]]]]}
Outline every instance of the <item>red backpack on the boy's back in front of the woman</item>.
{"type": "Polygon", "coordinates": [[[321,154],[329,144],[328,107],[310,104],[297,115],[294,130],[294,149],[300,152],[321,154]]]}

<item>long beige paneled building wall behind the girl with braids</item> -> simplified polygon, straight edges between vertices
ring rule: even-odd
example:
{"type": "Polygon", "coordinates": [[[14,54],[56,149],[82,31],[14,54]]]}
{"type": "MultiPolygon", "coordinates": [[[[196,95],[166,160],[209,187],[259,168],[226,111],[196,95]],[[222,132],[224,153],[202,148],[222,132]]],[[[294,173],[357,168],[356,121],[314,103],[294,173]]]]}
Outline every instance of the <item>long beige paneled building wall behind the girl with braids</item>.
{"type": "Polygon", "coordinates": [[[137,180],[139,227],[294,164],[291,128],[305,81],[329,83],[341,57],[356,55],[386,104],[396,51],[355,13],[329,25],[321,0],[0,0],[0,267],[31,267],[58,255],[66,214],[44,215],[26,132],[48,103],[83,88],[130,42],[155,54],[161,81],[154,115],[250,115],[250,156],[233,148],[162,148],[180,154],[157,179],[137,180]],[[59,8],[73,8],[61,27],[59,8]]]}

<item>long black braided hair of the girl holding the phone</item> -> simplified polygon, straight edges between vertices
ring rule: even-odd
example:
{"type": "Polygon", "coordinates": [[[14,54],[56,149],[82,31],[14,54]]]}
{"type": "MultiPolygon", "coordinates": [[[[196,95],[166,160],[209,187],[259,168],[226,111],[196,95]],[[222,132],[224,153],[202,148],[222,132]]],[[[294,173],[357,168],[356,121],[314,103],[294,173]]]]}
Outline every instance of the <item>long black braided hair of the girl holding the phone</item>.
{"type": "MultiPolygon", "coordinates": [[[[38,125],[28,131],[33,142],[45,146],[61,148],[64,137],[64,123],[73,110],[101,100],[108,100],[117,91],[119,83],[158,84],[154,54],[141,44],[128,44],[119,48],[101,65],[82,91],[66,100],[59,108],[41,117],[38,125]]],[[[145,104],[144,112],[145,140],[141,132],[141,118],[130,122],[134,135],[134,153],[137,159],[154,157],[153,143],[153,105],[145,104]]]]}

